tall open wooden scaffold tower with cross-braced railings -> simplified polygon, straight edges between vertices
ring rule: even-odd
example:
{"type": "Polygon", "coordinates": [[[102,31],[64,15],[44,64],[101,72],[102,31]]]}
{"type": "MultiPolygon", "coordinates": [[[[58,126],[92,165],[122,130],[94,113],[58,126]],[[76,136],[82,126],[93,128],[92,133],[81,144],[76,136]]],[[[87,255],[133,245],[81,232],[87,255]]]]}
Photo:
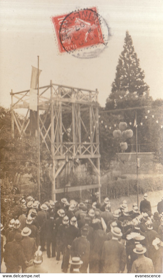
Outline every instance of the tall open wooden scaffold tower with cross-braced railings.
{"type": "MultiPolygon", "coordinates": [[[[30,110],[30,90],[13,93],[11,90],[12,112],[12,136],[14,136],[14,124],[16,125],[19,138],[30,126],[32,133],[32,121],[36,114],[30,110]],[[26,116],[20,123],[16,109],[25,108],[26,116]]],[[[85,90],[53,84],[39,87],[39,131],[42,142],[52,155],[52,167],[50,181],[52,183],[52,198],[55,200],[57,193],[65,192],[59,184],[59,176],[66,167],[68,158],[72,161],[86,159],[97,175],[98,182],[91,185],[67,187],[68,192],[79,190],[97,190],[100,193],[100,151],[99,151],[99,117],[98,117],[98,91],[85,90]],[[41,117],[41,112],[44,112],[41,117]],[[88,117],[84,117],[87,113],[88,117]],[[51,121],[47,126],[47,116],[51,115],[51,121]],[[70,119],[70,126],[64,126],[63,117],[70,119]],[[89,124],[88,124],[89,122],[89,124]],[[88,128],[89,126],[89,128],[88,128]],[[63,140],[64,133],[71,128],[72,139],[68,142],[63,140]],[[83,139],[84,138],[84,139],[83,139]]],[[[35,121],[36,122],[36,121],[35,121]]],[[[73,163],[71,163],[73,167],[73,163]]],[[[100,197],[99,197],[100,200],[100,197]]]]}

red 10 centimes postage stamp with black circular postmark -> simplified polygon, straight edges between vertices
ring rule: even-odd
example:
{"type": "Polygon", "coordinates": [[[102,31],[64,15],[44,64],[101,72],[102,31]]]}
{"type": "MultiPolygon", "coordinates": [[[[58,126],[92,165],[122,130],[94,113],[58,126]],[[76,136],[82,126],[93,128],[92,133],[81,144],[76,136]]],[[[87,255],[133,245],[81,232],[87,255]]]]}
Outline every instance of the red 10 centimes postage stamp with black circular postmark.
{"type": "Polygon", "coordinates": [[[104,44],[100,17],[96,7],[62,16],[53,16],[52,22],[61,53],[104,44]]]}

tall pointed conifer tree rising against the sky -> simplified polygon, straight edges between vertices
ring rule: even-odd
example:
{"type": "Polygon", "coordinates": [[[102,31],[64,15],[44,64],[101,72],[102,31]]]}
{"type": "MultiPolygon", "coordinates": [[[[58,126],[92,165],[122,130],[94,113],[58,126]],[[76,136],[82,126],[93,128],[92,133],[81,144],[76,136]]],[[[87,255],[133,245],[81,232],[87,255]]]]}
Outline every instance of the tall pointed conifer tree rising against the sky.
{"type": "Polygon", "coordinates": [[[116,67],[116,77],[112,83],[110,100],[115,97],[118,91],[136,92],[138,96],[142,96],[149,89],[149,86],[144,82],[144,71],[139,66],[139,59],[134,51],[133,41],[128,31],[126,31],[123,47],[116,67]]]}

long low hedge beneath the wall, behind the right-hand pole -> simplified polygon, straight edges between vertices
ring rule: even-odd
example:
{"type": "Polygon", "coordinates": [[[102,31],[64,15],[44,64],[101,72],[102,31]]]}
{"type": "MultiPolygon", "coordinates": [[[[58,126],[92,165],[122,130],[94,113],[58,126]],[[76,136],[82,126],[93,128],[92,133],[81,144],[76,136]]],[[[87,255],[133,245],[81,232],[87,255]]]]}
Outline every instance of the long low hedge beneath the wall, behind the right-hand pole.
{"type": "MultiPolygon", "coordinates": [[[[144,194],[148,191],[157,191],[163,189],[162,177],[147,177],[139,178],[139,194],[144,194]]],[[[109,181],[102,184],[101,197],[109,196],[109,198],[119,198],[121,196],[130,196],[137,194],[136,179],[119,179],[109,181]]],[[[101,199],[102,199],[101,198],[101,199]]]]}

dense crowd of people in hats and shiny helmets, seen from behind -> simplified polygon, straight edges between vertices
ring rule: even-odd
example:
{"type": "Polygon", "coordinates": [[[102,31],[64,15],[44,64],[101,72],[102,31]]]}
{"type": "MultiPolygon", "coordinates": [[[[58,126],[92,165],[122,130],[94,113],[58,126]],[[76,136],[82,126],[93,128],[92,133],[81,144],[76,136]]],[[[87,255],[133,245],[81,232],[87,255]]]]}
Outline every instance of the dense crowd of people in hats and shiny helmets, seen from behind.
{"type": "Polygon", "coordinates": [[[6,273],[48,273],[41,265],[46,250],[47,258],[62,258],[64,273],[69,265],[70,273],[162,273],[163,196],[154,214],[147,197],[131,211],[123,200],[113,212],[99,192],[80,203],[21,197],[12,202],[12,219],[1,223],[1,264],[6,273]]]}

